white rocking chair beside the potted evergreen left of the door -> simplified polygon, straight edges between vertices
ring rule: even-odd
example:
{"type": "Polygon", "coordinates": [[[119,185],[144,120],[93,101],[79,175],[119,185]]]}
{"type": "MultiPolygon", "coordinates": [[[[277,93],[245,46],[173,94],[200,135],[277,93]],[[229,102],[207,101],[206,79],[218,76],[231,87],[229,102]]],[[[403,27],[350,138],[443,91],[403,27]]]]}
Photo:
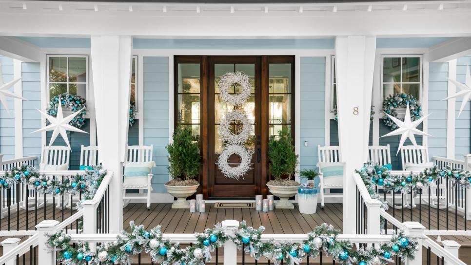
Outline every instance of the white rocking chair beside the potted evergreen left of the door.
{"type": "MultiPolygon", "coordinates": [[[[153,161],[152,151],[154,146],[128,146],[126,149],[126,166],[127,162],[151,162],[153,161]]],[[[156,164],[154,163],[154,167],[156,164]]],[[[123,184],[123,207],[129,204],[131,199],[142,199],[142,196],[126,196],[126,189],[138,189],[139,191],[147,189],[147,209],[151,207],[151,191],[152,191],[152,177],[154,174],[150,173],[147,181],[142,183],[134,182],[133,185],[123,184]]],[[[126,178],[126,176],[124,176],[126,178]]]]}

